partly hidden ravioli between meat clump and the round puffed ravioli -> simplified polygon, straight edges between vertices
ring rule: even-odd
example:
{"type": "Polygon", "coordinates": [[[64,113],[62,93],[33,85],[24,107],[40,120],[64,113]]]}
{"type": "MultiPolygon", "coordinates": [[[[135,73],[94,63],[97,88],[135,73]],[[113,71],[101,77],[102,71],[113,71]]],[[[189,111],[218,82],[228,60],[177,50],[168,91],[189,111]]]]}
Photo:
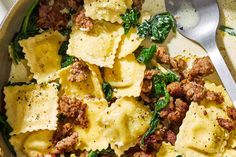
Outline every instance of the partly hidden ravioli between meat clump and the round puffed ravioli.
{"type": "Polygon", "coordinates": [[[107,107],[105,99],[84,99],[87,104],[87,116],[89,126],[86,129],[75,126],[74,130],[79,133],[77,148],[81,150],[102,150],[108,147],[108,142],[103,136],[104,128],[98,125],[98,114],[107,107]]]}

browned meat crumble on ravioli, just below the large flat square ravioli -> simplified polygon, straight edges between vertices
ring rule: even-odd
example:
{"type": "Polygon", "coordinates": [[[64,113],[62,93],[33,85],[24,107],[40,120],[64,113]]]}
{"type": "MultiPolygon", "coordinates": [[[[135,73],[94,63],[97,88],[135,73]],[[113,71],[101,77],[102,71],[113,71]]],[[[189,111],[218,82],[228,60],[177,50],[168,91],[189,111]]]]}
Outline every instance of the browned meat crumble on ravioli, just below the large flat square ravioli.
{"type": "Polygon", "coordinates": [[[70,69],[69,81],[81,82],[88,78],[89,68],[84,61],[75,61],[70,69]]]}

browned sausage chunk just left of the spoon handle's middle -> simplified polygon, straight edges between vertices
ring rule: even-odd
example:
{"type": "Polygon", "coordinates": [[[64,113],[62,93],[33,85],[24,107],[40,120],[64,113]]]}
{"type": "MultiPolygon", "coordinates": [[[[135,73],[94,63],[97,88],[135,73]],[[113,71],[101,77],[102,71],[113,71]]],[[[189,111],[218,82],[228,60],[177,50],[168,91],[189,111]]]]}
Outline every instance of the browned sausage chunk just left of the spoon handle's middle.
{"type": "Polygon", "coordinates": [[[214,72],[214,66],[209,57],[197,58],[189,72],[191,77],[205,76],[214,72]]]}

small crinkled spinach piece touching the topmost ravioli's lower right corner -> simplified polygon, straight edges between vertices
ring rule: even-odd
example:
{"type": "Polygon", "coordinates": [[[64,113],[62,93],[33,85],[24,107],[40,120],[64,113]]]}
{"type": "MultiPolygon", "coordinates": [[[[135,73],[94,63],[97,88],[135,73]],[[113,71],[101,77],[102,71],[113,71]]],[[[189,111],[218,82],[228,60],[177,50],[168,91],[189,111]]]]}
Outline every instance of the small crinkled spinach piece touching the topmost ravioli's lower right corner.
{"type": "Polygon", "coordinates": [[[125,14],[121,15],[121,18],[123,20],[125,34],[127,34],[131,27],[136,27],[138,25],[140,12],[137,9],[128,9],[125,14]]]}

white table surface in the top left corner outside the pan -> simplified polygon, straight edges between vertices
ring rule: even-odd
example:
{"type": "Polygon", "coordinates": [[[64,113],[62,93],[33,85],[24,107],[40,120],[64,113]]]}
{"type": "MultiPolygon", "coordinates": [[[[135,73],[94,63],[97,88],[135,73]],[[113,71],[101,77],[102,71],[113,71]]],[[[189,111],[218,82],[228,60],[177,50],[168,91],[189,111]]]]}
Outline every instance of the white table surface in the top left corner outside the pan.
{"type": "Polygon", "coordinates": [[[16,0],[0,0],[0,24],[16,0]]]}

